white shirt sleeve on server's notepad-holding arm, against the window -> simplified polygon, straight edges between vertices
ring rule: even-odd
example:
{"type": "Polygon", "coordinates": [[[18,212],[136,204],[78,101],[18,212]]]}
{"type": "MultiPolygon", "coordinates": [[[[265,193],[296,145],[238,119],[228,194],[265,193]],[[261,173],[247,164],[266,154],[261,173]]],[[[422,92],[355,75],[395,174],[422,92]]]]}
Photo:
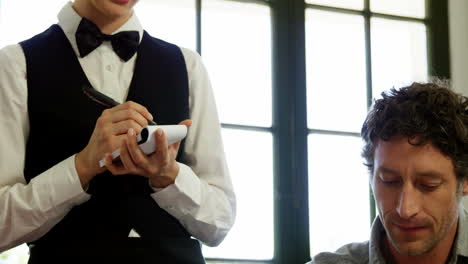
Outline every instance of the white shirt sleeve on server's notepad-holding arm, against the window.
{"type": "Polygon", "coordinates": [[[208,246],[217,246],[231,229],[236,198],[229,176],[216,104],[200,56],[182,49],[189,77],[192,126],[175,183],[152,194],[158,205],[208,246]]]}

